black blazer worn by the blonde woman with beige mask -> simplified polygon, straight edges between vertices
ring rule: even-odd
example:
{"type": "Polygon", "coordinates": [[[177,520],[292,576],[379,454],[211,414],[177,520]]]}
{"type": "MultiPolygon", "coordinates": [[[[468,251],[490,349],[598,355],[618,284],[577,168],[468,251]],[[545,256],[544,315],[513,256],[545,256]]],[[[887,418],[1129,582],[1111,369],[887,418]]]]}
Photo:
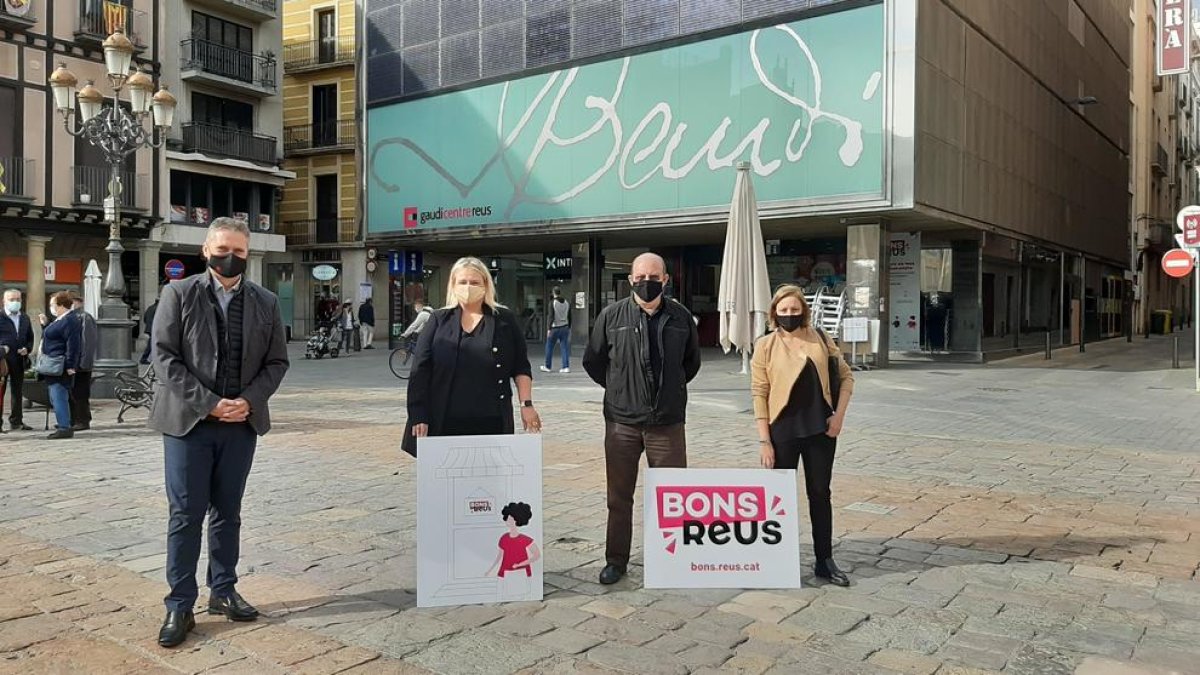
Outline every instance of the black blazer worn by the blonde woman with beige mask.
{"type": "MultiPolygon", "coordinates": [[[[518,375],[532,378],[533,369],[529,366],[524,333],[517,323],[516,315],[505,307],[496,307],[492,316],[496,319],[496,328],[492,331],[492,356],[496,358],[496,372],[499,380],[496,384],[496,395],[497,400],[506,401],[499,407],[508,412],[503,416],[504,431],[512,434],[515,429],[512,381],[518,375]]],[[[401,448],[414,458],[416,438],[413,436],[413,425],[428,424],[430,436],[439,436],[445,419],[454,417],[448,413],[454,412],[450,384],[458,362],[461,325],[460,307],[438,310],[430,317],[430,322],[425,324],[416,340],[408,378],[408,422],[404,424],[404,440],[401,443],[401,448]]]]}

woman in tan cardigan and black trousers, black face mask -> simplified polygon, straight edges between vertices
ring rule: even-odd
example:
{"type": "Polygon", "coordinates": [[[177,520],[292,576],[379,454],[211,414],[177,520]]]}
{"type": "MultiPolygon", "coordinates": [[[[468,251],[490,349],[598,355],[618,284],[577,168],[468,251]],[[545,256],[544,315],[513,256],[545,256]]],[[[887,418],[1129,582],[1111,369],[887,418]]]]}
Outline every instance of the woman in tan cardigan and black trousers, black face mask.
{"type": "Polygon", "coordinates": [[[830,584],[848,586],[850,579],[833,561],[829,483],[854,375],[833,340],[812,327],[812,312],[799,286],[775,291],[768,316],[773,330],[755,345],[750,363],[762,466],[794,470],[804,464],[816,554],[812,572],[830,584]],[[829,357],[836,357],[836,374],[829,372],[829,357]],[[830,375],[841,383],[836,401],[830,375]]]}

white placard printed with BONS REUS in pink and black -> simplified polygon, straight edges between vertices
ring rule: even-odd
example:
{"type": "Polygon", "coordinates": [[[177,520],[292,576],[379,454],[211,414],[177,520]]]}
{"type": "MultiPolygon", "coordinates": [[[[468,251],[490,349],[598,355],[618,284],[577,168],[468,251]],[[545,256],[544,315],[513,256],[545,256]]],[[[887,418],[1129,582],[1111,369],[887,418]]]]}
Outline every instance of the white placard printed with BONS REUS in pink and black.
{"type": "Polygon", "coordinates": [[[646,472],[647,589],[799,589],[796,471],[646,472]]]}

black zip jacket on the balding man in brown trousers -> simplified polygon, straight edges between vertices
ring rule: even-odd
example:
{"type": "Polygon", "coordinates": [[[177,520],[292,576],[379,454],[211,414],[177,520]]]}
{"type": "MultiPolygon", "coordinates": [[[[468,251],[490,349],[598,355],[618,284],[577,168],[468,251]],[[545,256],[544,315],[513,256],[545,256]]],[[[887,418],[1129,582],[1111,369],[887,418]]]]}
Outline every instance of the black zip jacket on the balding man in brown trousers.
{"type": "Polygon", "coordinates": [[[630,298],[608,305],[596,317],[583,369],[605,388],[604,417],[608,422],[666,425],[684,422],[688,383],[700,372],[700,335],[688,307],[664,298],[658,335],[649,335],[647,315],[630,298]],[[658,340],[662,375],[653,386],[650,340],[658,340]],[[655,395],[654,392],[658,392],[655,395]]]}

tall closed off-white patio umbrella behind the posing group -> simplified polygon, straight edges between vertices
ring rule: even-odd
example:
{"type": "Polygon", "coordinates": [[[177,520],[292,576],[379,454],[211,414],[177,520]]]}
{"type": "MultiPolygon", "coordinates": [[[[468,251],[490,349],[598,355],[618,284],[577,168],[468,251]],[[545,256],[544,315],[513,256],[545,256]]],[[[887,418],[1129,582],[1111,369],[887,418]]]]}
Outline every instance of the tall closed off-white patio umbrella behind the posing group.
{"type": "Polygon", "coordinates": [[[767,251],[758,225],[758,202],[750,184],[750,165],[738,165],[725,233],[721,285],[716,297],[721,321],[721,347],[742,352],[742,374],[749,372],[754,341],[763,334],[770,309],[767,251]]]}

